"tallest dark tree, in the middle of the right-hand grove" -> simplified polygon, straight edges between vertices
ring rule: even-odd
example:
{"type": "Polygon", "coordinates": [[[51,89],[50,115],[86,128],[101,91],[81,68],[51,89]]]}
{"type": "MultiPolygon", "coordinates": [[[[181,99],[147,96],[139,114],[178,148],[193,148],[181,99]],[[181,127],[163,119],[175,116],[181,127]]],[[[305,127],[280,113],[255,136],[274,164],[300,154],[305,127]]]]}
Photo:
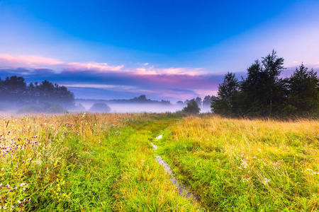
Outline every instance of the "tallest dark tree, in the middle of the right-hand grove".
{"type": "Polygon", "coordinates": [[[237,96],[237,114],[248,116],[279,115],[286,104],[286,80],[279,78],[284,59],[272,54],[254,61],[242,78],[237,96]]]}

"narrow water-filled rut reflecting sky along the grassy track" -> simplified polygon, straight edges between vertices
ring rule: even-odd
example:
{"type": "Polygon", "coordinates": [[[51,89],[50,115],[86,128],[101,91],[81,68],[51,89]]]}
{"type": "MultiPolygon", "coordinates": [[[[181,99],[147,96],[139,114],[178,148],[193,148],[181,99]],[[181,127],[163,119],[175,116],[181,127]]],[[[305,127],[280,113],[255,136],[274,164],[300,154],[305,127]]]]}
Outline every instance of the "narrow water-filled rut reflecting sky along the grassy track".
{"type": "MultiPolygon", "coordinates": [[[[162,134],[157,136],[156,139],[162,139],[162,134]]],[[[157,150],[157,146],[154,143],[150,143],[153,146],[153,150],[157,150]]],[[[157,160],[157,163],[159,163],[159,165],[162,165],[162,167],[164,167],[165,172],[169,173],[169,179],[171,180],[171,182],[177,187],[178,191],[179,191],[179,195],[186,197],[187,199],[191,199],[191,201],[197,202],[196,196],[194,196],[194,194],[192,194],[191,192],[189,192],[189,190],[187,189],[187,187],[184,184],[181,184],[179,182],[178,179],[176,179],[173,175],[173,172],[171,170],[171,168],[169,167],[169,165],[162,159],[161,156],[159,155],[155,155],[155,159],[157,160]]]]}

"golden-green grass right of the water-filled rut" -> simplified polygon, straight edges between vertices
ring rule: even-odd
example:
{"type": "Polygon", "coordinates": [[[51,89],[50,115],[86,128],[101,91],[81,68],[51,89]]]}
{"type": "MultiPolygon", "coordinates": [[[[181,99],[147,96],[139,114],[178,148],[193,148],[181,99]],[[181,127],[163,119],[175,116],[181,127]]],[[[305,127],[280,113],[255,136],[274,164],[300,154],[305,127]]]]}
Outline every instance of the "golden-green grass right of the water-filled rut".
{"type": "Polygon", "coordinates": [[[314,211],[319,122],[190,116],[158,145],[211,211],[314,211]]]}

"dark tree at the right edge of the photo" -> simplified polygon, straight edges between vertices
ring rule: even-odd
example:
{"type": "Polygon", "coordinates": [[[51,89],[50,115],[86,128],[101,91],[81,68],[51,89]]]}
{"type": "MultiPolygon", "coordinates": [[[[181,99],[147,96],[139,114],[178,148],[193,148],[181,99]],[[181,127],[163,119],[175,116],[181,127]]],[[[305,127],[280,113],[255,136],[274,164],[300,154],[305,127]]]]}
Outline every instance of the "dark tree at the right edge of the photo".
{"type": "Polygon", "coordinates": [[[319,79],[317,72],[299,66],[288,79],[289,109],[293,114],[319,112],[319,79]]]}

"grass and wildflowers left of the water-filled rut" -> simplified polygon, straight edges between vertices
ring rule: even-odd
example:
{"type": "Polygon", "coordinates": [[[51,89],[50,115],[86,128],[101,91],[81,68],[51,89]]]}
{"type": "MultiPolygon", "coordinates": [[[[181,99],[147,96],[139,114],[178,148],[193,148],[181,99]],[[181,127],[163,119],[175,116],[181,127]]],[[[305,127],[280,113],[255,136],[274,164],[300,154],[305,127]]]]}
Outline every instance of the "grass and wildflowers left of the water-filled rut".
{"type": "Polygon", "coordinates": [[[155,121],[168,117],[1,117],[0,211],[198,210],[154,160],[149,141],[164,126],[155,121]]]}

